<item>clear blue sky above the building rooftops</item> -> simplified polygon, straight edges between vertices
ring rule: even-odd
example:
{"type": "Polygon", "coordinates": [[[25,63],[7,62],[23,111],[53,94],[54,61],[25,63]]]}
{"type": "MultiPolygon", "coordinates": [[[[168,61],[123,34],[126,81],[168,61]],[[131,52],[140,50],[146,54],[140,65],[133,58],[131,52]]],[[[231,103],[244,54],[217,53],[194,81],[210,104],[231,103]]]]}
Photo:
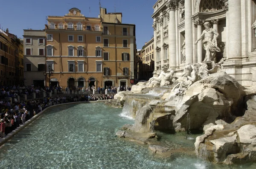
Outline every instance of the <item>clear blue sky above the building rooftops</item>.
{"type": "MultiPolygon", "coordinates": [[[[114,12],[116,6],[116,12],[122,12],[122,23],[136,25],[136,43],[140,49],[153,36],[151,14],[156,1],[101,0],[101,4],[107,12],[114,12]]],[[[74,7],[86,17],[98,17],[99,0],[0,0],[0,26],[22,37],[23,29],[44,29],[46,16],[63,16],[74,7]]]]}

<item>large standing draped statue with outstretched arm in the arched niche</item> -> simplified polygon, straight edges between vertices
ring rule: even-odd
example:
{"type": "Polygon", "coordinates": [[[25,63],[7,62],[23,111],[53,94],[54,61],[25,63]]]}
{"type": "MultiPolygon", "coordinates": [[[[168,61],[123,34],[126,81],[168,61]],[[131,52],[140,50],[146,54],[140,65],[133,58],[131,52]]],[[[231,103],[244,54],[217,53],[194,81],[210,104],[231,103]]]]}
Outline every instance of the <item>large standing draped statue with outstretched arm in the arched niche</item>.
{"type": "Polygon", "coordinates": [[[204,23],[205,30],[201,34],[201,36],[195,41],[195,44],[198,43],[199,40],[201,40],[204,37],[203,40],[203,47],[206,51],[204,61],[205,62],[216,62],[216,52],[221,52],[221,49],[218,48],[217,39],[219,37],[218,32],[214,28],[210,28],[210,23],[206,22],[204,23]]]}

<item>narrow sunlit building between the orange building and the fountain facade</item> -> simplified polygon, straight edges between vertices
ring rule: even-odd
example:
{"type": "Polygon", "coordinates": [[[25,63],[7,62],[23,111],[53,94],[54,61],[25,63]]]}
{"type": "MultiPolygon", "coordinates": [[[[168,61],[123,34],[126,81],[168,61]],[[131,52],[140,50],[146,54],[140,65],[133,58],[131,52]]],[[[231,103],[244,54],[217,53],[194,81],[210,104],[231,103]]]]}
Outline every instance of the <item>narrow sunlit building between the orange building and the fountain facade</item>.
{"type": "Polygon", "coordinates": [[[143,49],[141,50],[142,55],[142,77],[141,80],[149,80],[153,77],[154,72],[154,38],[150,41],[145,42],[143,49]]]}

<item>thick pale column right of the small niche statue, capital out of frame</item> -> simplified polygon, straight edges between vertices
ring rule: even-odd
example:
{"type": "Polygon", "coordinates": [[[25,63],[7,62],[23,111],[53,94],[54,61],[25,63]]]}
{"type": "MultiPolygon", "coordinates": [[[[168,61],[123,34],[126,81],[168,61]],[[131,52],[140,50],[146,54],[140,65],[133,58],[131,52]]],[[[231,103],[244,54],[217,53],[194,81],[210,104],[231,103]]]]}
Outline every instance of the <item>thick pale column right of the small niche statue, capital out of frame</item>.
{"type": "Polygon", "coordinates": [[[193,63],[192,0],[185,1],[185,44],[186,64],[193,63]]]}

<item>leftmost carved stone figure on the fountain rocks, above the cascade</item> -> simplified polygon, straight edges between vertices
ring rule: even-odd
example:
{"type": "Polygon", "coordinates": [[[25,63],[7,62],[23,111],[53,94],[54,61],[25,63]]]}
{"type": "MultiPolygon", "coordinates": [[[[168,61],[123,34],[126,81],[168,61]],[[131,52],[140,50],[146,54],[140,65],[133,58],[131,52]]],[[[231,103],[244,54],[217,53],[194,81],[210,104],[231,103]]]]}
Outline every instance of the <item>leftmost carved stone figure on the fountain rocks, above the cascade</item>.
{"type": "Polygon", "coordinates": [[[160,73],[160,75],[158,77],[151,77],[148,80],[148,84],[160,83],[160,86],[169,85],[170,82],[172,81],[174,71],[171,70],[170,73],[168,73],[167,69],[168,68],[166,66],[162,66],[162,72],[160,73]]]}

